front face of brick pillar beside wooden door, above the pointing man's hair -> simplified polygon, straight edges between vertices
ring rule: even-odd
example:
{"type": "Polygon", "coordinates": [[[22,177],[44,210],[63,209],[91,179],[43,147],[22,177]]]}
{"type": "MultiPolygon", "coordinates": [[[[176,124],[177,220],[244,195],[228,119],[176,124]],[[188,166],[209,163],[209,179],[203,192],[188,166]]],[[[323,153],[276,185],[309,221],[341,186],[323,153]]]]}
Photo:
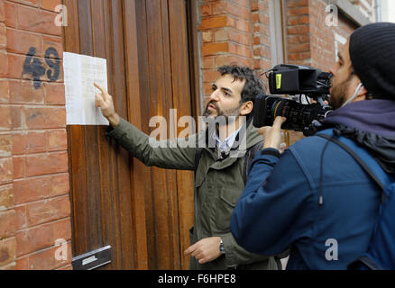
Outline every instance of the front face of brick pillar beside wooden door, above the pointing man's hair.
{"type": "Polygon", "coordinates": [[[201,60],[204,94],[211,94],[217,67],[253,67],[250,1],[200,2],[201,60]]]}

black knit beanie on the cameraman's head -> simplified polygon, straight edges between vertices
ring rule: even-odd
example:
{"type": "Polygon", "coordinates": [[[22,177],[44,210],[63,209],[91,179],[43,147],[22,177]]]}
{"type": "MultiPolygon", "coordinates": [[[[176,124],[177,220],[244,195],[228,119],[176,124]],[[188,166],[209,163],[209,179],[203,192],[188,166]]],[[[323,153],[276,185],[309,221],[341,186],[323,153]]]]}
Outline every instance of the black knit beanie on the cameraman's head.
{"type": "Polygon", "coordinates": [[[395,100],[395,23],[372,23],[354,31],[350,57],[373,98],[395,100]]]}

